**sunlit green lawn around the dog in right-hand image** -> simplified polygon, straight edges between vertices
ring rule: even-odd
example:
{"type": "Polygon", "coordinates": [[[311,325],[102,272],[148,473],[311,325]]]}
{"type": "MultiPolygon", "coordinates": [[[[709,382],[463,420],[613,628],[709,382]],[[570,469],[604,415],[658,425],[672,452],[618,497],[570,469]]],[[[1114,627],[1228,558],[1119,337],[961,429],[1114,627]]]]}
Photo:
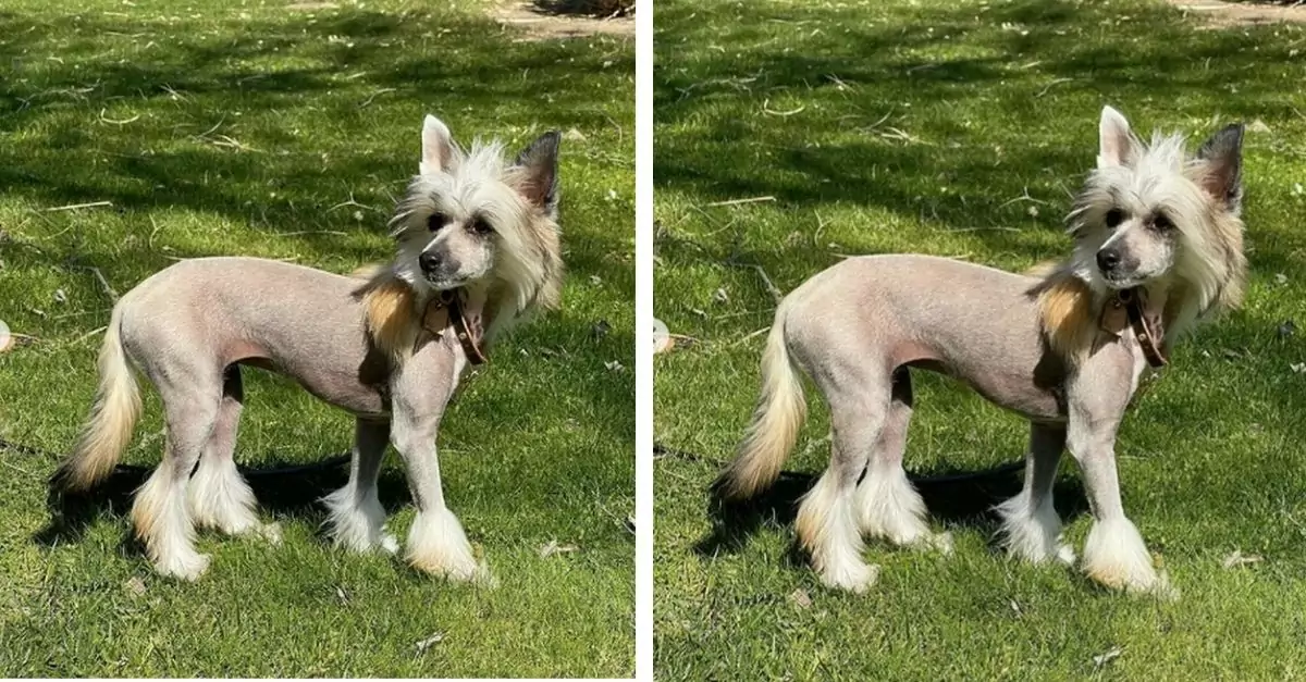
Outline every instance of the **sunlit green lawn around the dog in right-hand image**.
{"type": "MultiPolygon", "coordinates": [[[[662,678],[1306,677],[1306,375],[1290,368],[1306,348],[1276,333],[1306,320],[1306,31],[1195,21],[1139,0],[658,3],[654,312],[695,340],[654,361],[662,678]],[[1246,140],[1246,306],[1175,351],[1117,444],[1126,511],[1182,600],[995,553],[985,510],[1013,477],[925,489],[953,557],[872,544],[868,594],[823,589],[791,551],[793,502],[828,459],[816,395],[774,508],[713,536],[705,489],[752,410],[754,332],[774,308],[739,265],[789,291],[845,253],[1058,257],[1105,103],[1194,144],[1263,123],[1246,140]],[[773,200],[709,206],[751,197],[773,200]],[[1264,560],[1226,570],[1234,550],[1264,560]]],[[[910,470],[1019,461],[1017,417],[916,376],[910,470]]],[[[1070,463],[1057,493],[1081,546],[1070,463]]]]}

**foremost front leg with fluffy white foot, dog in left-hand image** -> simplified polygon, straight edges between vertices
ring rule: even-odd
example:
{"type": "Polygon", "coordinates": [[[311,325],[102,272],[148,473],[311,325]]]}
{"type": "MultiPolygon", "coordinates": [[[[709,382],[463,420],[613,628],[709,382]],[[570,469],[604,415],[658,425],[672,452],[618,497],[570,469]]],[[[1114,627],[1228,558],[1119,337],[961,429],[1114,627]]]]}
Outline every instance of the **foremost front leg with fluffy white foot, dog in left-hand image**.
{"type": "MultiPolygon", "coordinates": [[[[407,560],[414,568],[451,580],[488,581],[485,564],[471,553],[458,517],[444,504],[440,461],[435,449],[439,410],[413,412],[396,400],[390,442],[404,457],[417,517],[407,536],[407,560]]],[[[443,405],[440,406],[443,409],[443,405]]]]}

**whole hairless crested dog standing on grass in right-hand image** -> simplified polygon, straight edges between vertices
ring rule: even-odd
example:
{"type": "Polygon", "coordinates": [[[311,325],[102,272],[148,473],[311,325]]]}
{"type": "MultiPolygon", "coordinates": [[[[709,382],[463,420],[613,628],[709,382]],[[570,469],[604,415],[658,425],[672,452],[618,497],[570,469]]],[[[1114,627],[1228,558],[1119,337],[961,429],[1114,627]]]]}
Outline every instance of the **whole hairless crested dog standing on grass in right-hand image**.
{"type": "Polygon", "coordinates": [[[1030,422],[1024,487],[998,506],[1000,541],[1033,563],[1074,564],[1053,507],[1062,451],[1077,463],[1093,527],[1083,570],[1130,593],[1177,596],[1124,516],[1114,442],[1148,367],[1195,323],[1235,308],[1246,280],[1241,124],[1190,155],[1181,135],[1143,142],[1105,107],[1097,169],[1067,217],[1075,247],[1040,276],[921,255],[848,259],[776,311],[761,397],[718,499],[771,486],[806,417],[802,370],[829,404],[831,463],[795,521],[824,584],[866,591],[862,538],[951,551],[902,470],[910,368],[960,379],[1030,422]]]}

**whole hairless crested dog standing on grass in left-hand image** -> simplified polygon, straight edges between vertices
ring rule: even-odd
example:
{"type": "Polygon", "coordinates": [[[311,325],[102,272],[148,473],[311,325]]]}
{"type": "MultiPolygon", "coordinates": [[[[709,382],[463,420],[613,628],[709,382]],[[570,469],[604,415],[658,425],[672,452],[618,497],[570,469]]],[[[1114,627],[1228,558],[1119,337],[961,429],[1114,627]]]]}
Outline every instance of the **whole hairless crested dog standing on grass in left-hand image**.
{"type": "Polygon", "coordinates": [[[366,274],[206,257],[145,280],[114,307],[95,404],[52,489],[84,491],[112,472],[140,413],[135,366],[158,389],[167,429],[163,461],[131,512],[154,568],[184,580],[204,574],[196,525],[278,540],[232,460],[240,368],[260,367],[355,417],[349,482],[324,499],[334,544],[397,551],[376,495],[392,444],[418,508],[409,563],[452,580],[488,579],[445,504],[435,436],[468,363],[559,302],[559,140],[549,132],[509,162],[502,142],[464,149],[427,116],[419,172],[390,221],[396,255],[366,274]]]}

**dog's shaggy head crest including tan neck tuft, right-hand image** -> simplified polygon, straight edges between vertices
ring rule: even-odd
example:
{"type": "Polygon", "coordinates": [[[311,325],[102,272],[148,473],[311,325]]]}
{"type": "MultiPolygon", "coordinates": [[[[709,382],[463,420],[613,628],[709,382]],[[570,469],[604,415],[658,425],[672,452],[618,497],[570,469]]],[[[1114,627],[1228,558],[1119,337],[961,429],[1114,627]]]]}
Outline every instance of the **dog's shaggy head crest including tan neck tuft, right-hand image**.
{"type": "Polygon", "coordinates": [[[1143,142],[1121,112],[1102,110],[1097,167],[1067,217],[1075,251],[1033,290],[1058,353],[1089,350],[1114,291],[1144,287],[1165,300],[1171,336],[1238,306],[1247,268],[1242,133],[1242,124],[1228,125],[1188,154],[1182,135],[1143,142]]]}

